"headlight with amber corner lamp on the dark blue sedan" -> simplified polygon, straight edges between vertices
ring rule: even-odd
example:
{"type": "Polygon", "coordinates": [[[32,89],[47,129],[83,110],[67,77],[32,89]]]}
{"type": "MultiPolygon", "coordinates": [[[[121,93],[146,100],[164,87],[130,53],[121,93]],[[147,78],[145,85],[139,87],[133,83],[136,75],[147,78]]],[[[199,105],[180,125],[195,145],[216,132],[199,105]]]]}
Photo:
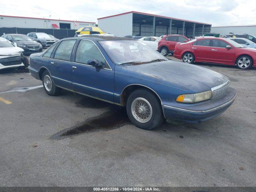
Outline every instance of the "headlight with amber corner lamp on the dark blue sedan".
{"type": "Polygon", "coordinates": [[[196,94],[182,94],[176,98],[176,102],[182,103],[196,103],[200,101],[209,100],[212,96],[212,91],[206,91],[196,94]]]}

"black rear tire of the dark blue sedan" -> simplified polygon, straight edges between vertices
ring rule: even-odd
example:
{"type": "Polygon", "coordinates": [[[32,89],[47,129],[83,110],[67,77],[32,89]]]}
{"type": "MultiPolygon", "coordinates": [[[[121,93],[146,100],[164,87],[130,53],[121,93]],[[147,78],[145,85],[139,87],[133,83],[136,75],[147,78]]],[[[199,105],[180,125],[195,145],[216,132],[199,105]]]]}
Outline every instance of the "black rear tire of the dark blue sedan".
{"type": "Polygon", "coordinates": [[[42,82],[43,82],[44,90],[48,95],[55,96],[55,95],[59,95],[61,93],[62,89],[57,87],[54,84],[52,77],[47,70],[44,71],[44,73],[42,75],[42,82]],[[47,85],[48,83],[46,83],[45,81],[48,81],[51,83],[51,88],[50,88],[50,86],[47,85]]]}

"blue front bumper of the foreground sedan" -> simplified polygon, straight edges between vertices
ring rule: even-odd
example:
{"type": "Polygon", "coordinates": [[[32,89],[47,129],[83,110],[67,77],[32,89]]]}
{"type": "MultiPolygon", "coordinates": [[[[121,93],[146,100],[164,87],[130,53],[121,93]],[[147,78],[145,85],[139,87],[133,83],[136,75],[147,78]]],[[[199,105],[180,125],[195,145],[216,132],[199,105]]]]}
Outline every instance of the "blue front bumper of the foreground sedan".
{"type": "Polygon", "coordinates": [[[164,116],[166,119],[185,122],[202,122],[214,118],[223,113],[236,98],[236,90],[229,88],[226,95],[196,104],[181,104],[173,102],[164,104],[164,116]]]}

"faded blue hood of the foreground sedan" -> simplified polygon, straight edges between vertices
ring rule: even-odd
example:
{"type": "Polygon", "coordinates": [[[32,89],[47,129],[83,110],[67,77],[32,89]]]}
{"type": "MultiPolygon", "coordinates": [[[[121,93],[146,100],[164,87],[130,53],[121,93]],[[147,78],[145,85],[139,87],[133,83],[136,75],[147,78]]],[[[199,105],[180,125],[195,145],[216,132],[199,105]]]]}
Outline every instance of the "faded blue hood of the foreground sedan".
{"type": "Polygon", "coordinates": [[[188,92],[204,92],[229,80],[224,74],[174,61],[118,66],[116,71],[188,92]]]}

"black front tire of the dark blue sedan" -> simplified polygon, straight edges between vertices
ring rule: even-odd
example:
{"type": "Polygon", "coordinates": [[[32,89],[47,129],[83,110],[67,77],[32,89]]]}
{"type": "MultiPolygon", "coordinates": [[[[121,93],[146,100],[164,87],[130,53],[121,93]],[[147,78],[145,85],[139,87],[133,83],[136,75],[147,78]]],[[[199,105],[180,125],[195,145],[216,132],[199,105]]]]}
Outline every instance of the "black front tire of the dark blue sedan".
{"type": "Polygon", "coordinates": [[[158,98],[156,97],[155,94],[153,94],[152,92],[144,88],[135,90],[129,95],[126,102],[126,111],[132,124],[134,124],[138,128],[142,128],[145,130],[152,130],[154,128],[159,127],[164,122],[162,106],[158,98]],[[152,115],[148,115],[150,118],[148,119],[145,118],[145,122],[140,122],[138,118],[136,118],[137,114],[138,115],[143,114],[143,110],[142,110],[142,113],[139,112],[139,110],[144,106],[140,105],[139,108],[137,107],[138,109],[137,113],[135,112],[136,110],[132,110],[132,108],[136,109],[136,107],[133,107],[133,106],[136,106],[136,104],[138,104],[141,101],[144,102],[144,104],[146,104],[146,108],[143,109],[144,112],[146,112],[147,109],[150,110],[150,107],[151,107],[150,114],[152,115]],[[147,102],[150,105],[148,105],[147,102]]]}

